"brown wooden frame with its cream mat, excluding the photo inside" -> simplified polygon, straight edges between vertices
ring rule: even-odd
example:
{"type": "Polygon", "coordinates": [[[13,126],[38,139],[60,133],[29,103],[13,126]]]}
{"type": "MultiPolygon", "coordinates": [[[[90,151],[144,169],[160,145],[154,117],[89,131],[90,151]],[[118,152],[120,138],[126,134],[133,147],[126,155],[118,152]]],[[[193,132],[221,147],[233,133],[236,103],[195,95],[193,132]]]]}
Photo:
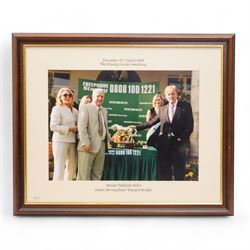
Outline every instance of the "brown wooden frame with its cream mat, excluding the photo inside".
{"type": "Polygon", "coordinates": [[[12,53],[14,215],[234,214],[234,34],[19,33],[12,53]],[[48,71],[66,69],[198,72],[199,180],[46,179],[48,71]]]}

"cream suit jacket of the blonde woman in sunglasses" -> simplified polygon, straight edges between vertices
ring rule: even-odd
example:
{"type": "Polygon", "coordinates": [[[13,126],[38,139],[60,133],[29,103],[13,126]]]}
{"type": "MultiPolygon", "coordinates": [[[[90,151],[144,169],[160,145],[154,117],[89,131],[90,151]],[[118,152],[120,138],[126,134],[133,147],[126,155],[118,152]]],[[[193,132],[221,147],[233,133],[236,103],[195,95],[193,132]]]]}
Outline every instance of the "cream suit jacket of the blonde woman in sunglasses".
{"type": "Polygon", "coordinates": [[[76,133],[69,127],[76,126],[78,111],[67,106],[54,106],[50,115],[50,129],[54,132],[52,140],[58,142],[75,142],[76,133]]]}

